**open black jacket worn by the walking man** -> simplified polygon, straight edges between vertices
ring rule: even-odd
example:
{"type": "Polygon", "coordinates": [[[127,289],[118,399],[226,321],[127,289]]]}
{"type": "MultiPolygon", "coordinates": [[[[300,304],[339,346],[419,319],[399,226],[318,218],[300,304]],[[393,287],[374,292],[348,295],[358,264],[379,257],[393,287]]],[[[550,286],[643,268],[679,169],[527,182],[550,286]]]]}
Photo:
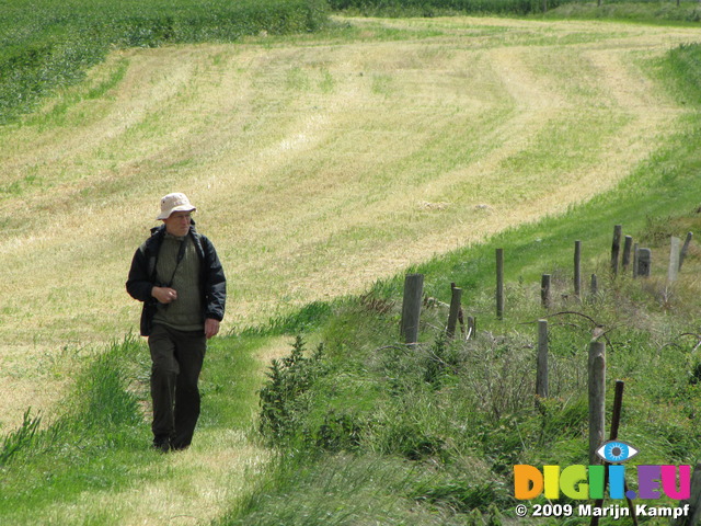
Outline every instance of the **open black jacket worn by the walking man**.
{"type": "MultiPolygon", "coordinates": [[[[194,221],[189,226],[188,236],[192,236],[202,262],[199,284],[203,297],[203,319],[212,318],[221,321],[227,300],[227,278],[223,275],[221,262],[211,241],[206,236],[197,233],[194,221]]],[[[134,299],[143,301],[140,327],[142,336],[148,336],[151,333],[156,315],[158,300],[151,296],[151,289],[159,285],[156,277],[156,263],[164,237],[165,225],[151,229],[151,237],[134,254],[126,283],[129,295],[134,299]]]]}

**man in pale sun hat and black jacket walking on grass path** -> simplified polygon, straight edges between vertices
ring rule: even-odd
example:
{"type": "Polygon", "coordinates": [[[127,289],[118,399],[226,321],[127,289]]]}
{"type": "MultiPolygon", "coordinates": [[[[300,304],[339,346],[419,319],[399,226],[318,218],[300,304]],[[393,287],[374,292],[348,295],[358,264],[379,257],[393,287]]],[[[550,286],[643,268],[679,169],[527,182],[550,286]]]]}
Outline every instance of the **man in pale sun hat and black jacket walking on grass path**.
{"type": "Polygon", "coordinates": [[[197,381],[207,340],[219,332],[227,284],[214,244],[195,230],[185,194],[161,199],[163,225],[134,254],[126,283],[143,301],[141,335],[149,338],[153,447],[189,446],[199,418],[197,381]]]}

